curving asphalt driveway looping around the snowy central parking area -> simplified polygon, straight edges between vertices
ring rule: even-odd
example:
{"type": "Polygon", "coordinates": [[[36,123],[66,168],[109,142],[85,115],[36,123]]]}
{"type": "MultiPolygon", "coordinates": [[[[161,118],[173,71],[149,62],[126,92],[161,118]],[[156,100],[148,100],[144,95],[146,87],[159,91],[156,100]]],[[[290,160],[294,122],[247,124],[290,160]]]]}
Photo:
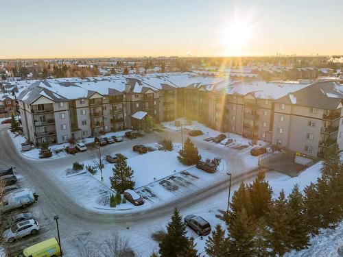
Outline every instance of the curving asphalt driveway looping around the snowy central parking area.
{"type": "MultiPolygon", "coordinates": [[[[126,234],[125,230],[128,230],[129,228],[130,230],[137,230],[137,233],[142,233],[142,228],[145,228],[146,225],[148,226],[150,221],[156,221],[156,219],[165,221],[169,219],[176,206],[180,209],[189,207],[201,202],[203,199],[206,199],[206,197],[228,190],[228,180],[226,180],[208,186],[199,193],[182,197],[161,208],[152,208],[150,210],[126,215],[118,213],[99,214],[80,206],[73,200],[73,197],[70,197],[67,192],[49,176],[47,170],[51,167],[58,167],[57,165],[60,163],[64,162],[65,164],[63,158],[55,160],[29,160],[23,158],[12,144],[12,140],[7,133],[8,129],[9,125],[0,126],[0,166],[16,167],[15,173],[23,176],[23,183],[36,188],[39,199],[32,208],[39,213],[37,218],[38,222],[44,224],[44,232],[40,232],[40,236],[34,238],[34,242],[29,238],[24,238],[19,241],[19,243],[16,243],[15,247],[11,247],[14,252],[20,250],[19,248],[24,248],[49,237],[56,236],[56,223],[53,219],[54,215],[58,215],[60,218],[59,225],[64,256],[75,256],[74,250],[80,245],[85,245],[88,242],[102,243],[104,238],[110,237],[115,230],[118,230],[119,233],[120,231],[123,231],[123,234],[126,234]],[[145,226],[142,224],[145,224],[145,226]],[[13,248],[15,248],[15,250],[13,248]]],[[[150,136],[147,136],[147,138],[142,138],[141,141],[130,143],[130,145],[147,142],[147,140],[152,142],[152,138],[150,137],[155,137],[154,142],[156,142],[156,134],[158,134],[158,132],[154,132],[150,136]]],[[[165,136],[165,133],[161,133],[161,137],[163,136],[165,136]]],[[[168,136],[169,138],[173,138],[173,140],[180,141],[180,136],[177,134],[171,133],[168,136]]],[[[197,144],[209,149],[208,145],[202,145],[202,143],[197,144]]],[[[128,145],[126,145],[126,147],[128,147],[128,145]]],[[[241,163],[239,158],[230,158],[230,160],[228,160],[229,157],[225,156],[220,149],[213,148],[211,150],[215,151],[215,154],[221,156],[226,162],[229,161],[230,164],[231,162],[234,162],[232,167],[239,167],[239,163],[241,163]]],[[[82,157],[82,155],[78,154],[76,156],[78,156],[76,157],[78,159],[86,158],[86,155],[82,157]]],[[[241,167],[241,169],[244,169],[244,167],[241,167]]],[[[237,175],[233,175],[233,184],[255,176],[257,171],[237,170],[235,173],[237,173],[237,175]],[[238,173],[240,175],[238,175],[238,173]]],[[[223,208],[225,207],[223,206],[223,208]]],[[[132,238],[132,243],[137,246],[137,242],[134,241],[134,238],[132,238]]]]}

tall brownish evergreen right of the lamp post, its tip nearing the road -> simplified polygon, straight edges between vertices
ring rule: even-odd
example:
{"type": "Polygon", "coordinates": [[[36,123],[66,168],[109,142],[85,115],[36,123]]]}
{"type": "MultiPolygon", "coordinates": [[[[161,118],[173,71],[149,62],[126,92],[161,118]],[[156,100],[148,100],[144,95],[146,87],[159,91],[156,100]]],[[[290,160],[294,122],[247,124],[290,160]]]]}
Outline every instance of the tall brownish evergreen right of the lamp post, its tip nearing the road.
{"type": "Polygon", "coordinates": [[[261,171],[248,188],[252,204],[252,215],[254,215],[255,219],[259,219],[270,208],[270,204],[272,203],[272,188],[265,181],[265,175],[261,171]]]}

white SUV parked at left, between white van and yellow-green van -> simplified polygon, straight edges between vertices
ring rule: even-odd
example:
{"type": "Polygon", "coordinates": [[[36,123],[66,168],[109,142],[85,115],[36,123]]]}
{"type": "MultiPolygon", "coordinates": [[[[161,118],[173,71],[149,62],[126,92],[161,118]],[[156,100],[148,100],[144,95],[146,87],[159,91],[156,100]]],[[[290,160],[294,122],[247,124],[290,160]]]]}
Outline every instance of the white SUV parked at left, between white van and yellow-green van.
{"type": "Polygon", "coordinates": [[[22,238],[23,236],[27,236],[29,234],[36,234],[39,230],[38,222],[34,219],[29,219],[27,221],[18,222],[8,230],[3,232],[3,239],[5,241],[12,243],[16,241],[16,239],[22,238]]]}

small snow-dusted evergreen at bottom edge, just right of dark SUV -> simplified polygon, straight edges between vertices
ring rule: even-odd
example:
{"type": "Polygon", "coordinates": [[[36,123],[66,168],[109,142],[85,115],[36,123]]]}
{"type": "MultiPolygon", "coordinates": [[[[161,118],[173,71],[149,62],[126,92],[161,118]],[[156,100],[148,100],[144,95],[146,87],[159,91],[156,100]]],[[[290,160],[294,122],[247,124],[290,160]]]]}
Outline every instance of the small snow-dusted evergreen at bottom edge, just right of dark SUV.
{"type": "Polygon", "coordinates": [[[225,238],[225,231],[217,224],[212,235],[206,239],[205,251],[210,257],[226,257],[228,256],[229,243],[225,238]]]}

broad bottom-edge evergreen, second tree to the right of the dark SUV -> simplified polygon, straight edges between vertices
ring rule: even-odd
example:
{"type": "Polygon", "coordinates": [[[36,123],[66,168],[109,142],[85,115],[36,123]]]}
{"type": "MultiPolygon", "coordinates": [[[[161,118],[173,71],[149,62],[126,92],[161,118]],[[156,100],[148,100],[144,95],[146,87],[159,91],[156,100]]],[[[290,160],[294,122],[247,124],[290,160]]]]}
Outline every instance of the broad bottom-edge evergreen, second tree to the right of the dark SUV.
{"type": "Polygon", "coordinates": [[[248,217],[244,208],[233,216],[228,226],[228,233],[232,243],[229,256],[253,256],[255,252],[255,223],[248,217]]]}

